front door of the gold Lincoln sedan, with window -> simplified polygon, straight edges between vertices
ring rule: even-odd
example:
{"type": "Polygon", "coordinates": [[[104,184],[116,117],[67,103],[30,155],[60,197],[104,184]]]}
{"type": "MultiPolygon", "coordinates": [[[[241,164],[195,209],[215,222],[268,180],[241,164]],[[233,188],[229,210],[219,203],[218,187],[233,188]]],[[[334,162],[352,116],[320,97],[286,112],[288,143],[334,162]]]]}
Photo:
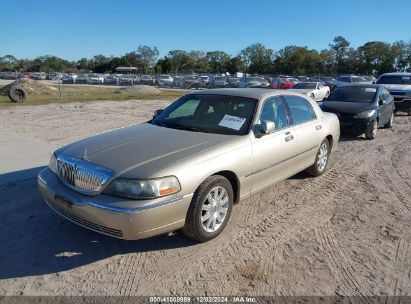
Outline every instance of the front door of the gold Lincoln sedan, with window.
{"type": "Polygon", "coordinates": [[[251,133],[252,192],[289,177],[293,172],[295,131],[283,98],[269,97],[264,101],[258,123],[264,120],[274,122],[275,129],[270,134],[261,134],[259,130],[251,133]]]}

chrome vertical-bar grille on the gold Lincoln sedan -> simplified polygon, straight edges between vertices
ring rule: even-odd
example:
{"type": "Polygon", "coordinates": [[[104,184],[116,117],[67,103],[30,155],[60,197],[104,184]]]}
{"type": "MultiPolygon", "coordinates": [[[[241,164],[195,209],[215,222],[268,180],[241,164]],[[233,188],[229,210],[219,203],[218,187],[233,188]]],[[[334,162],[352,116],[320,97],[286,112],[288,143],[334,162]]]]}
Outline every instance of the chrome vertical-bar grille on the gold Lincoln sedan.
{"type": "Polygon", "coordinates": [[[99,192],[114,173],[110,169],[65,155],[57,158],[57,172],[68,187],[86,194],[99,192]]]}

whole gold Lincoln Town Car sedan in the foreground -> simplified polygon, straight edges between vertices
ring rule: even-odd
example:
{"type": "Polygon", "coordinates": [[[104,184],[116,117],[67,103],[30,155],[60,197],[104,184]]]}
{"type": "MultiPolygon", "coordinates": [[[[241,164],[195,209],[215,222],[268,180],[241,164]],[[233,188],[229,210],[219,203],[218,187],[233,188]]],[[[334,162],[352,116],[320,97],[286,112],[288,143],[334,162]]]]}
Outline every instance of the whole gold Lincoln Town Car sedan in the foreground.
{"type": "Polygon", "coordinates": [[[38,185],[56,213],[93,231],[132,240],[181,230],[205,242],[252,194],[323,174],[339,137],[337,116],[300,93],[193,91],[145,123],[58,149],[38,185]]]}

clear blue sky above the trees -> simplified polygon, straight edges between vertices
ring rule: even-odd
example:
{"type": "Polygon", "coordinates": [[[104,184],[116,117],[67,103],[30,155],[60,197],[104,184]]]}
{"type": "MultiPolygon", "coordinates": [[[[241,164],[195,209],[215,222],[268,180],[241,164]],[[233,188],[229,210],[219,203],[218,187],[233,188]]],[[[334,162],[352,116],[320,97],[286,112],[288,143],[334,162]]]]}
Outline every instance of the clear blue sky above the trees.
{"type": "Polygon", "coordinates": [[[0,56],[78,60],[121,56],[139,45],[223,50],[261,42],[325,49],[341,35],[353,47],[411,40],[410,0],[0,0],[0,56]]]}

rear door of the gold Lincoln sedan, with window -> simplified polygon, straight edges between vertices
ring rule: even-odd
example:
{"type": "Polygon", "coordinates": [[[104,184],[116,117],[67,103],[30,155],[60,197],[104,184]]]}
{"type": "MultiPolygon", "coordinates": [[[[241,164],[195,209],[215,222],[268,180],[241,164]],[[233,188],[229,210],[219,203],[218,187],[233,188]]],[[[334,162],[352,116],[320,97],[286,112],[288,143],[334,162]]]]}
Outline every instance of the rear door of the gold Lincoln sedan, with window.
{"type": "Polygon", "coordinates": [[[296,134],[294,165],[301,171],[314,163],[322,138],[323,125],[311,103],[304,97],[284,95],[296,134]]]}

